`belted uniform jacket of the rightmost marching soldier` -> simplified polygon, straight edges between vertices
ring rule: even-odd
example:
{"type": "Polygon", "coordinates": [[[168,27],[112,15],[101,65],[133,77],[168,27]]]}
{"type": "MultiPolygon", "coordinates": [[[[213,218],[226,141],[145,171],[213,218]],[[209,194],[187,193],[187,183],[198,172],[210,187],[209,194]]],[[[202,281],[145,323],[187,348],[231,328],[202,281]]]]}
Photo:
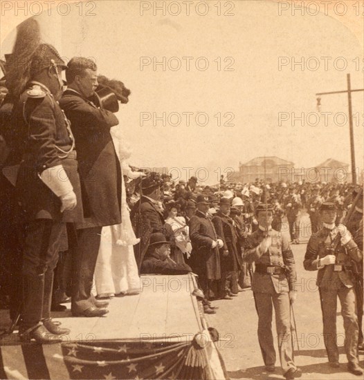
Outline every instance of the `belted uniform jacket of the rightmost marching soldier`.
{"type": "Polygon", "coordinates": [[[363,260],[363,253],[358,249],[354,240],[351,239],[345,246],[339,243],[335,265],[325,265],[319,269],[318,260],[324,258],[327,254],[334,254],[328,249],[332,247],[332,242],[337,234],[338,229],[336,227],[334,229],[322,227],[315,234],[312,234],[309,239],[303,265],[306,270],[318,270],[318,287],[338,289],[341,284],[346,287],[352,287],[354,285],[354,276],[352,274],[351,259],[357,263],[363,260]]]}

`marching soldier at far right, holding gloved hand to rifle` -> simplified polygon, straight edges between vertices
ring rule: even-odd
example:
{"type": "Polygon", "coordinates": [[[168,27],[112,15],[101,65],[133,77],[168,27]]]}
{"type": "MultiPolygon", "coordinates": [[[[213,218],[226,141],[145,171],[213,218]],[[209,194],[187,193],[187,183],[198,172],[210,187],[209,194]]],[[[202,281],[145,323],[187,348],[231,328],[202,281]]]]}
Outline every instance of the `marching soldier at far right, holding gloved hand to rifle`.
{"type": "Polygon", "coordinates": [[[339,352],[336,342],[337,298],[341,303],[344,319],[345,351],[347,369],[356,375],[363,374],[358,363],[358,316],[356,313],[356,294],[352,260],[361,263],[363,252],[352,238],[345,225],[335,225],[336,206],[323,202],[320,207],[322,227],[311,235],[304,256],[304,269],[318,270],[317,285],[320,292],[323,336],[329,357],[329,365],[338,368],[339,352]],[[334,240],[340,236],[340,242],[334,251],[334,240]]]}

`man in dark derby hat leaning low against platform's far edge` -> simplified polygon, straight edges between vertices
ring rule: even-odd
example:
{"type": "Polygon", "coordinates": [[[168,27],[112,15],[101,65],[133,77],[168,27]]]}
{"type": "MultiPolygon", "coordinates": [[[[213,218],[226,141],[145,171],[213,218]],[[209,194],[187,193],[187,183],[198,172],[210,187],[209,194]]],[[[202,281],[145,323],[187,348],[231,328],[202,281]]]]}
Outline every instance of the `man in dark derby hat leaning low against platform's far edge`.
{"type": "Polygon", "coordinates": [[[176,263],[170,258],[170,242],[161,232],[151,234],[141,274],[187,274],[192,269],[185,263],[176,263]]]}

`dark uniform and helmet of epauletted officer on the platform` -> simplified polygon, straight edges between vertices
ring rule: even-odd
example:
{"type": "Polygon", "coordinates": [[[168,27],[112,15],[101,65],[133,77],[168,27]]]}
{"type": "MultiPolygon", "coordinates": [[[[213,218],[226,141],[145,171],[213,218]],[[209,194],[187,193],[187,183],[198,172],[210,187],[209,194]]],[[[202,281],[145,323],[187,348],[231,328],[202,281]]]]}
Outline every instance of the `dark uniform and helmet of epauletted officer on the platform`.
{"type": "MultiPolygon", "coordinates": [[[[55,65],[64,67],[57,51],[52,46],[40,45],[33,58],[33,73],[55,65]]],[[[44,84],[30,82],[15,107],[15,120],[19,129],[26,131],[16,183],[19,201],[26,211],[22,267],[24,301],[19,329],[21,335],[26,336],[41,325],[41,320],[50,317],[53,270],[57,264],[62,226],[64,222],[82,218],[82,201],[71,129],[44,84]],[[62,165],[66,171],[78,199],[78,206],[64,213],[60,211],[60,198],[40,178],[45,169],[57,165],[62,165]]],[[[64,172],[53,175],[64,175],[64,172]]]]}

